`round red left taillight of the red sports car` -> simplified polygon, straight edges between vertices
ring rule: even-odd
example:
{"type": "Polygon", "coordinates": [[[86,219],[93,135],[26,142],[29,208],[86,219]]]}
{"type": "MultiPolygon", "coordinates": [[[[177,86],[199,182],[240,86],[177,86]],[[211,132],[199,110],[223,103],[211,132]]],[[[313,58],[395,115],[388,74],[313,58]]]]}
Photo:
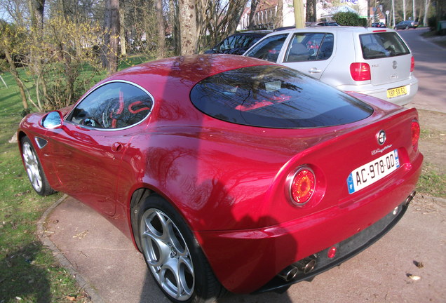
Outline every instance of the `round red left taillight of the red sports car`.
{"type": "Polygon", "coordinates": [[[299,168],[290,184],[292,201],[300,205],[308,202],[315,188],[316,177],[313,171],[309,168],[299,168]]]}

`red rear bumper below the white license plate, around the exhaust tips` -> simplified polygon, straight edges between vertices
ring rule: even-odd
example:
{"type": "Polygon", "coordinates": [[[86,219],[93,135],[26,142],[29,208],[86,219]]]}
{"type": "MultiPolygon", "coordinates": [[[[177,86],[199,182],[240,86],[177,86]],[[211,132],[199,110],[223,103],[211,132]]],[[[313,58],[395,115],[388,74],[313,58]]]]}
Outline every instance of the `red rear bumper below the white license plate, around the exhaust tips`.
{"type": "Polygon", "coordinates": [[[356,255],[391,229],[404,213],[403,207],[396,215],[393,210],[414,191],[422,161],[423,156],[419,154],[404,179],[386,184],[351,203],[337,204],[270,227],[196,232],[196,238],[227,290],[249,293],[286,287],[356,255]],[[333,245],[339,247],[334,260],[326,264],[318,261],[314,271],[286,283],[276,278],[286,267],[311,255],[316,254],[323,260],[327,255],[325,250],[333,245]]]}

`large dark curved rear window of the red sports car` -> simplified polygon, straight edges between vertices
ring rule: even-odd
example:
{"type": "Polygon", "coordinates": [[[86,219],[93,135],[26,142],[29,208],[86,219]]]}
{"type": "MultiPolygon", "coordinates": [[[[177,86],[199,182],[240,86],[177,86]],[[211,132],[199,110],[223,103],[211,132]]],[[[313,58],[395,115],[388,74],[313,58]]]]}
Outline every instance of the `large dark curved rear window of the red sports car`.
{"type": "Polygon", "coordinates": [[[198,82],[191,101],[214,118],[266,128],[317,128],[365,119],[373,109],[295,69],[261,65],[198,82]]]}

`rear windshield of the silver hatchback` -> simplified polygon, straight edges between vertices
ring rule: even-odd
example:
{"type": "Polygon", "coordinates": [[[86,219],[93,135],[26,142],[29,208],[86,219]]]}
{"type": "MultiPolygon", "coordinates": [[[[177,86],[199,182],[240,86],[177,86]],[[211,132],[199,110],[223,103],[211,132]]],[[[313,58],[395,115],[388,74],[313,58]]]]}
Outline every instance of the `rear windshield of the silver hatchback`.
{"type": "Polygon", "coordinates": [[[364,59],[376,59],[410,54],[396,32],[376,32],[359,36],[364,59]]]}

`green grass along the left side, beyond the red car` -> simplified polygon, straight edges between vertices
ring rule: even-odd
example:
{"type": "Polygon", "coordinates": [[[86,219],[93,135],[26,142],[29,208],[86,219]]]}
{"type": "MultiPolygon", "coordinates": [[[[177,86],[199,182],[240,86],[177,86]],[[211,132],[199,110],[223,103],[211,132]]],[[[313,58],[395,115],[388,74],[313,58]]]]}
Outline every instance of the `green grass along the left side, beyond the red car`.
{"type": "MultiPolygon", "coordinates": [[[[119,69],[144,61],[143,56],[131,56],[121,61],[119,69]]],[[[92,72],[88,67],[82,71],[86,77],[92,72]]],[[[19,73],[35,98],[31,76],[24,69],[19,73]]],[[[61,195],[41,197],[29,184],[18,144],[9,143],[22,119],[20,93],[11,74],[1,76],[8,88],[0,81],[0,303],[88,302],[36,235],[36,222],[61,195]]],[[[96,74],[93,81],[104,77],[105,72],[96,74]]]]}

